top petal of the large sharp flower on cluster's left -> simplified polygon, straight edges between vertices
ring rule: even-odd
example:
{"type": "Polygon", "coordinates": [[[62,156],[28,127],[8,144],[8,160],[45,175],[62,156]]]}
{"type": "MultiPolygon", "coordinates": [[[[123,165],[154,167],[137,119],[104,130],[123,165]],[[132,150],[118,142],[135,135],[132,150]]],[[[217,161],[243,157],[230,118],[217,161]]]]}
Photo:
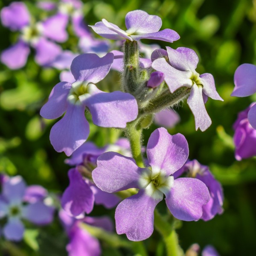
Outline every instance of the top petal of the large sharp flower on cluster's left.
{"type": "Polygon", "coordinates": [[[110,52],[102,58],[94,53],[81,54],[74,58],[70,69],[76,80],[96,84],[107,76],[113,59],[110,52]]]}

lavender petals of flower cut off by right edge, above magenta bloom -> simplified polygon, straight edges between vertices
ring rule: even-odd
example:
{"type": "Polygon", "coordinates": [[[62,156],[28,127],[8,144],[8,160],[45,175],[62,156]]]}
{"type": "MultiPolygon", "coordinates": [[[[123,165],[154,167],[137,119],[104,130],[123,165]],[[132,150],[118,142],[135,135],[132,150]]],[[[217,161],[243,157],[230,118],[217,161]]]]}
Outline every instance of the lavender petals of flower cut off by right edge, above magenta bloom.
{"type": "MultiPolygon", "coordinates": [[[[246,97],[256,93],[256,65],[241,64],[234,75],[235,88],[231,96],[246,97]]],[[[256,105],[250,108],[248,120],[256,129],[256,105]]]]}

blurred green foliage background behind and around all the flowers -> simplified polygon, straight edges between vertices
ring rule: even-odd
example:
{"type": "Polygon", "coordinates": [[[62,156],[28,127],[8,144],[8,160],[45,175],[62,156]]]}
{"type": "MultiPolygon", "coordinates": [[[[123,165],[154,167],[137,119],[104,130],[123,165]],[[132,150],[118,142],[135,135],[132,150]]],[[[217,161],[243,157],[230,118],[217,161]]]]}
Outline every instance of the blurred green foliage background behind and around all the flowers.
{"type": "MultiPolygon", "coordinates": [[[[45,17],[46,13],[36,8],[36,2],[24,2],[35,17],[45,17]]],[[[0,8],[9,3],[9,0],[0,1],[0,8]]],[[[195,131],[194,117],[186,102],[175,108],[181,122],[169,132],[184,134],[189,143],[189,158],[210,166],[222,183],[225,196],[223,215],[217,215],[208,222],[182,223],[177,230],[180,245],[186,250],[192,243],[198,243],[201,248],[212,244],[222,256],[256,255],[256,159],[237,162],[232,139],[232,125],[237,113],[256,100],[256,96],[230,96],[236,67],[242,63],[256,64],[256,0],[98,0],[84,1],[83,11],[89,25],[104,17],[124,29],[125,14],[135,9],[160,16],[162,29],[171,28],[180,35],[180,40],[173,44],[143,42],[157,43],[163,48],[182,46],[194,49],[200,59],[197,72],[212,73],[218,93],[224,99],[224,102],[212,99],[207,102],[212,125],[204,133],[195,131]]],[[[1,50],[17,38],[16,33],[3,26],[0,26],[0,35],[1,50]]],[[[63,48],[75,50],[76,44],[77,39],[71,36],[63,48]]],[[[33,54],[20,70],[9,70],[0,64],[0,172],[20,174],[28,184],[41,184],[50,192],[61,193],[68,185],[69,167],[64,164],[66,156],[55,152],[49,142],[49,131],[55,121],[43,120],[39,115],[52,87],[59,81],[58,76],[59,71],[35,64],[33,54]]],[[[106,79],[108,87],[118,86],[119,80],[114,71],[106,79]]],[[[113,140],[113,130],[95,125],[90,127],[89,140],[97,145],[113,140]]],[[[145,130],[144,145],[155,128],[151,125],[145,130]]],[[[95,207],[91,215],[108,213],[113,216],[114,210],[95,207]]],[[[37,231],[35,227],[32,229],[37,231]]],[[[67,237],[57,215],[53,224],[42,228],[40,234],[35,232],[29,233],[25,241],[18,244],[2,239],[0,255],[67,255],[67,237]]],[[[157,231],[150,241],[144,243],[150,255],[164,255],[163,241],[157,231]]],[[[104,243],[102,250],[103,255],[133,255],[122,249],[113,254],[104,243]]]]}

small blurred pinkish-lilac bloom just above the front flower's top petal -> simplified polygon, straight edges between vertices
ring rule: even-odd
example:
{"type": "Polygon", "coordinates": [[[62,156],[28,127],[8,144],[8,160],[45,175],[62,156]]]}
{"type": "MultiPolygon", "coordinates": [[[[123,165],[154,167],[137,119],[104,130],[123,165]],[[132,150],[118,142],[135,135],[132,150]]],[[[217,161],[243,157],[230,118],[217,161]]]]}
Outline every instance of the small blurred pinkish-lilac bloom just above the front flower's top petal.
{"type": "Polygon", "coordinates": [[[154,122],[165,128],[173,128],[180,122],[180,116],[174,110],[166,108],[155,114],[154,122]]]}

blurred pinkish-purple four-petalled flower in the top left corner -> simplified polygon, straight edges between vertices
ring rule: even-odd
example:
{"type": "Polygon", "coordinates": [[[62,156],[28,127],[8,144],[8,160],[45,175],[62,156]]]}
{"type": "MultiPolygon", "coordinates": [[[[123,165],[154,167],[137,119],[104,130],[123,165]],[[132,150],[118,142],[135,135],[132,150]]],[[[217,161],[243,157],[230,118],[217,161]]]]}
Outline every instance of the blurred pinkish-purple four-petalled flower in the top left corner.
{"type": "Polygon", "coordinates": [[[67,20],[63,15],[33,23],[26,5],[13,2],[1,10],[0,16],[3,26],[20,31],[17,43],[1,54],[1,61],[11,69],[18,69],[26,64],[30,47],[35,48],[35,61],[38,64],[49,64],[61,52],[61,47],[53,41],[67,40],[67,20]]]}

